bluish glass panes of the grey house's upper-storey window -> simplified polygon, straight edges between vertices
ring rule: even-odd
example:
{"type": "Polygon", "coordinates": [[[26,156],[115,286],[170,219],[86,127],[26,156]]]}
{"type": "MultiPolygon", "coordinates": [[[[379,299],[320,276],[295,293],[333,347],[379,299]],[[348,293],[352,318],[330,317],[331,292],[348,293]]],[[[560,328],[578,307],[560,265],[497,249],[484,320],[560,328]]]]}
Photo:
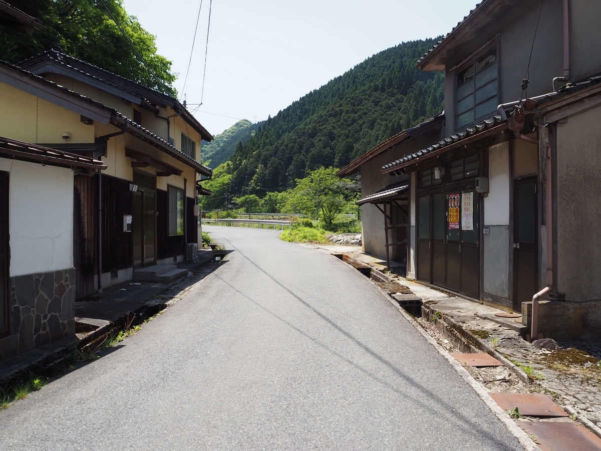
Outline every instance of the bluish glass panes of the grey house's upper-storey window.
{"type": "Polygon", "coordinates": [[[458,130],[496,111],[499,104],[497,66],[496,48],[492,48],[475,58],[469,67],[457,72],[455,116],[458,130]]]}

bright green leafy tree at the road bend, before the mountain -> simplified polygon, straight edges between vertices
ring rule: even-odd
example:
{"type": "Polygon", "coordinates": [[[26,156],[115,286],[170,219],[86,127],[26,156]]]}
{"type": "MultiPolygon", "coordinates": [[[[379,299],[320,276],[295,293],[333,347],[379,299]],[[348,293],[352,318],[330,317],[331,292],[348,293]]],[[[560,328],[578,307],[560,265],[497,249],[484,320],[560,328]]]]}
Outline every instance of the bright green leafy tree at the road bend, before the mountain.
{"type": "Polygon", "coordinates": [[[340,179],[336,168],[319,168],[304,179],[296,180],[291,189],[285,209],[289,213],[304,213],[323,221],[324,228],[331,230],[336,217],[349,204],[348,186],[351,180],[340,179]]]}

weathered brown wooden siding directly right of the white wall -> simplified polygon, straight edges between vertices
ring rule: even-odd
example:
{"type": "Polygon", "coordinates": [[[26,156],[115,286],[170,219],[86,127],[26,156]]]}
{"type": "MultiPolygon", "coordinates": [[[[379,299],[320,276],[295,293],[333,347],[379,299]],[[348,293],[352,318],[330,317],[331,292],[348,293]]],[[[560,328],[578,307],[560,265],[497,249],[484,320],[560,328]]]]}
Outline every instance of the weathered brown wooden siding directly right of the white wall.
{"type": "Polygon", "coordinates": [[[73,260],[76,299],[96,291],[98,242],[98,176],[75,176],[73,199],[73,260]]]}

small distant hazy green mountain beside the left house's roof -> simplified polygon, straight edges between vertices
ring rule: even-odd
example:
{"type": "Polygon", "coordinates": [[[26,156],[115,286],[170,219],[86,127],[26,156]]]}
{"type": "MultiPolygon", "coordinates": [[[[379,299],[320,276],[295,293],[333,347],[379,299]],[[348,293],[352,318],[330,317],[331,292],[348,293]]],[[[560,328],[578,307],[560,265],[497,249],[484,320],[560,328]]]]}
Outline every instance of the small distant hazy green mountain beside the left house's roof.
{"type": "Polygon", "coordinates": [[[210,143],[203,141],[203,164],[216,168],[228,161],[234,155],[234,152],[236,152],[238,143],[245,143],[249,138],[253,137],[258,127],[262,126],[264,122],[261,121],[253,124],[249,120],[242,119],[223,133],[219,133],[210,143]]]}

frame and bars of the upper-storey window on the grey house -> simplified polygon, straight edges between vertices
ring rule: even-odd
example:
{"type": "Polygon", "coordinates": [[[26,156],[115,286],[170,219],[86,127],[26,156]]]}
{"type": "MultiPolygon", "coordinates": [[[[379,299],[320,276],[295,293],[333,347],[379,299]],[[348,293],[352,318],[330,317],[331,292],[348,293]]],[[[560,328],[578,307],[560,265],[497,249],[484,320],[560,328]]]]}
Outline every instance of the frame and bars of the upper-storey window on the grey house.
{"type": "MultiPolygon", "coordinates": [[[[469,58],[467,58],[465,61],[463,61],[463,63],[460,63],[458,66],[454,67],[453,70],[453,109],[454,109],[454,125],[455,125],[455,130],[459,131],[459,130],[465,130],[468,127],[473,126],[475,123],[478,123],[480,121],[483,121],[484,119],[486,119],[487,117],[490,117],[491,114],[494,114],[496,111],[496,108],[494,108],[492,111],[487,112],[484,115],[481,116],[476,116],[476,108],[480,105],[483,105],[486,102],[489,102],[491,99],[495,98],[496,96],[496,105],[498,105],[499,99],[501,99],[501,57],[500,57],[500,51],[501,51],[501,45],[500,45],[500,40],[497,38],[493,39],[492,41],[490,41],[489,43],[487,43],[483,48],[479,49],[477,52],[474,52],[474,54],[472,54],[469,58]],[[493,80],[490,80],[489,82],[484,83],[481,87],[476,87],[475,83],[476,83],[476,76],[480,73],[483,73],[484,70],[488,69],[489,67],[491,67],[491,64],[488,64],[487,66],[483,67],[483,69],[481,69],[480,71],[477,72],[477,61],[478,58],[483,57],[484,55],[486,55],[488,52],[490,51],[494,51],[496,54],[496,60],[495,63],[496,64],[496,78],[493,80]],[[472,76],[472,83],[474,84],[474,88],[473,90],[470,91],[469,94],[467,94],[466,96],[462,97],[462,99],[458,98],[458,94],[457,94],[457,90],[458,88],[460,88],[460,86],[457,85],[459,78],[458,75],[461,72],[464,72],[465,70],[468,70],[469,67],[473,67],[474,68],[474,75],[472,76]],[[476,93],[478,90],[481,90],[482,88],[486,87],[487,85],[493,84],[493,82],[495,82],[495,86],[496,86],[496,93],[493,96],[489,96],[486,97],[486,99],[481,100],[480,102],[476,101],[476,93]],[[470,95],[474,96],[474,101],[473,101],[473,106],[471,108],[465,109],[462,112],[459,112],[457,105],[459,104],[459,102],[461,102],[462,100],[467,99],[470,95]],[[465,114],[466,112],[469,111],[473,111],[474,112],[474,120],[472,120],[469,123],[463,124],[461,126],[459,126],[459,115],[461,114],[465,114]]],[[[463,84],[462,84],[463,86],[463,84]]],[[[496,107],[495,105],[495,107],[496,107]]]]}

